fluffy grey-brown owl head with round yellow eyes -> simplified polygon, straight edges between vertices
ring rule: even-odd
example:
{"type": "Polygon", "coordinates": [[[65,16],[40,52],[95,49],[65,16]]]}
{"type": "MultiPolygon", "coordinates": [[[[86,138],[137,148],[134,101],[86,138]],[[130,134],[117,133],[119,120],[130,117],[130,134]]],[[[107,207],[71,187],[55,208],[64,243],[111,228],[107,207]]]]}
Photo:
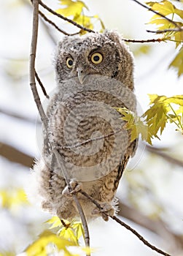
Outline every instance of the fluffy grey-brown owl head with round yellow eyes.
{"type": "Polygon", "coordinates": [[[63,37],[55,54],[58,83],[87,75],[103,75],[120,80],[133,90],[133,56],[116,31],[63,37]]]}

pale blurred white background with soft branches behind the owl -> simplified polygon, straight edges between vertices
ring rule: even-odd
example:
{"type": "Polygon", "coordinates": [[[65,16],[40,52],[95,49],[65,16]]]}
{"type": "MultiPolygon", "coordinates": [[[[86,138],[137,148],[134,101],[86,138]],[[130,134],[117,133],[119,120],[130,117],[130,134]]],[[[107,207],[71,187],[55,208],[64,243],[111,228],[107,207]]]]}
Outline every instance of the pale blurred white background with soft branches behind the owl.
{"type": "MultiPolygon", "coordinates": [[[[59,1],[44,2],[53,10],[59,8],[59,1]]],[[[37,110],[28,82],[32,7],[26,0],[0,3],[0,255],[19,255],[44,230],[43,222],[50,215],[28,203],[24,192],[31,182],[30,167],[40,155],[37,110]]],[[[152,13],[131,0],[85,0],[85,4],[90,15],[99,15],[106,29],[117,29],[125,38],[155,37],[146,31],[152,13]]],[[[47,17],[69,33],[77,31],[50,14],[47,17]]],[[[36,70],[48,94],[55,87],[55,43],[62,37],[40,19],[36,70]]],[[[168,69],[176,55],[173,42],[130,43],[129,47],[135,56],[135,94],[142,112],[148,108],[147,94],[182,94],[183,76],[177,78],[176,71],[168,69]]],[[[39,94],[44,100],[40,89],[39,94]]],[[[153,148],[141,143],[117,191],[119,217],[174,256],[183,255],[182,155],[182,134],[173,124],[167,125],[161,140],[153,140],[153,148]]],[[[98,219],[89,229],[95,256],[157,255],[112,220],[98,219]]]]}

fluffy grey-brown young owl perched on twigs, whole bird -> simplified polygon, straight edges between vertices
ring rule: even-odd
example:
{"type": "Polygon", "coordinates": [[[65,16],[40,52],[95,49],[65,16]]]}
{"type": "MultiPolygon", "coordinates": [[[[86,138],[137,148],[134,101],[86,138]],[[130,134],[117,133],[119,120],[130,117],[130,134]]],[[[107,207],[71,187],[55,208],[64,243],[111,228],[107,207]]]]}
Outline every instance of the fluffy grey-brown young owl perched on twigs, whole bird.
{"type": "Polygon", "coordinates": [[[61,219],[79,217],[50,141],[58,148],[75,191],[82,189],[101,211],[77,194],[87,219],[115,212],[115,193],[134,154],[130,132],[116,108],[136,111],[133,57],[115,31],[64,37],[55,52],[57,87],[47,106],[42,159],[36,162],[42,208],[61,219]]]}

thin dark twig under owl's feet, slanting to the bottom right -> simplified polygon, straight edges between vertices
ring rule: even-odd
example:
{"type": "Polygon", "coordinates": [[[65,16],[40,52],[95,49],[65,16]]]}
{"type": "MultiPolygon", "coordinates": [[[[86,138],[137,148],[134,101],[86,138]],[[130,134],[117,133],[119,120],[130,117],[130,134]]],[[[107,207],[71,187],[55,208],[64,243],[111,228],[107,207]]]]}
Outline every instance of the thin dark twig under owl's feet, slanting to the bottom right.
{"type": "MultiPolygon", "coordinates": [[[[91,202],[93,202],[100,210],[101,205],[93,199],[93,197],[90,197],[90,195],[88,195],[86,192],[79,190],[79,193],[81,193],[82,195],[84,195],[85,197],[87,197],[87,199],[89,199],[91,202]]],[[[151,248],[152,250],[160,253],[161,255],[164,256],[171,256],[166,252],[163,252],[161,249],[158,249],[156,246],[150,244],[143,236],[141,236],[136,230],[134,230],[132,227],[130,227],[129,225],[125,224],[125,222],[122,222],[120,219],[118,219],[115,216],[110,216],[108,214],[106,214],[105,212],[102,212],[102,214],[105,214],[107,217],[110,217],[111,219],[114,219],[117,223],[119,223],[120,225],[122,225],[123,227],[125,227],[126,229],[130,230],[135,236],[137,236],[146,246],[148,246],[149,248],[151,248]]]]}

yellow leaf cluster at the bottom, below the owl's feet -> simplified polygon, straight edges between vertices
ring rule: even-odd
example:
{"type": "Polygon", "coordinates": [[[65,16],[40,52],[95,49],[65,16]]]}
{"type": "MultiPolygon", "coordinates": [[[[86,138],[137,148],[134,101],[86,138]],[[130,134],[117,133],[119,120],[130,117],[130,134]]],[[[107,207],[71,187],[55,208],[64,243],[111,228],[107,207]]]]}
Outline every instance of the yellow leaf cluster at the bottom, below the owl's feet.
{"type": "Polygon", "coordinates": [[[26,249],[28,256],[47,256],[62,252],[64,256],[79,256],[69,252],[69,246],[77,246],[87,253],[90,249],[79,246],[79,238],[84,237],[84,230],[81,222],[68,222],[58,217],[52,217],[47,223],[50,230],[45,230],[39,235],[39,238],[26,249]],[[55,233],[54,230],[57,230],[55,233]]]}

